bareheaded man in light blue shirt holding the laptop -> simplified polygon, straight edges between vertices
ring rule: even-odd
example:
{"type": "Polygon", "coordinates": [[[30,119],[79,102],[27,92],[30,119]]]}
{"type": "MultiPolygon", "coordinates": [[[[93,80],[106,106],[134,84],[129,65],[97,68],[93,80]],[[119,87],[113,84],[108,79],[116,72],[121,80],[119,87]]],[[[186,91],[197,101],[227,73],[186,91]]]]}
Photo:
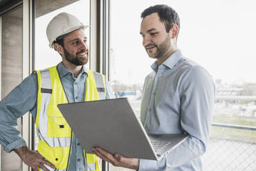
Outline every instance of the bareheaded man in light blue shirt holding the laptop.
{"type": "Polygon", "coordinates": [[[203,170],[214,105],[212,77],[178,50],[180,22],[172,8],[152,6],[141,17],[143,46],[156,61],[145,79],[140,119],[148,134],[185,133],[189,138],[159,161],[93,150],[113,165],[135,170],[203,170]]]}

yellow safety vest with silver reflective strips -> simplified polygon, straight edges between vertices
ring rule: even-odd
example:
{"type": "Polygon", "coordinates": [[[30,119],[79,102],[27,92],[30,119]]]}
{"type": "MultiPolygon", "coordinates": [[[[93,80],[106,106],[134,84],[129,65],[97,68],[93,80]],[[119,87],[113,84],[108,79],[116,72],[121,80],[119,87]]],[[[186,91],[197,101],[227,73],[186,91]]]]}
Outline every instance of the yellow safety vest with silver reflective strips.
{"type": "MultiPolygon", "coordinates": [[[[56,66],[37,73],[37,136],[38,152],[60,171],[67,171],[70,162],[73,131],[62,116],[57,104],[68,103],[56,66]]],[[[84,101],[105,99],[104,75],[87,70],[84,101]]],[[[86,170],[100,170],[95,154],[84,152],[86,170]]]]}

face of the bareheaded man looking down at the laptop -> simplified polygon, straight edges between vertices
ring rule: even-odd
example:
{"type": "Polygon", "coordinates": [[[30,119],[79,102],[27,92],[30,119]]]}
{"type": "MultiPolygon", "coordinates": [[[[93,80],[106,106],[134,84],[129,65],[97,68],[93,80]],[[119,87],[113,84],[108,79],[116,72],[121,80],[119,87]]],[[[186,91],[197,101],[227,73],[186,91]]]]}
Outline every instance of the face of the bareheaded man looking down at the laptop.
{"type": "Polygon", "coordinates": [[[156,12],[143,19],[140,24],[140,34],[143,37],[143,46],[149,57],[161,59],[172,54],[174,49],[172,29],[166,32],[165,24],[160,21],[156,12]]]}

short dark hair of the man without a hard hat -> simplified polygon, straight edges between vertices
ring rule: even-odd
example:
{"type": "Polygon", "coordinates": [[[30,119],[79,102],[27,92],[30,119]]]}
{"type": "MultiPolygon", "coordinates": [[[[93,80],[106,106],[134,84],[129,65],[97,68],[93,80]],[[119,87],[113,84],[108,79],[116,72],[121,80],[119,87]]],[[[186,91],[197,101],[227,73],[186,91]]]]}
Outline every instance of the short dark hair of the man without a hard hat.
{"type": "Polygon", "coordinates": [[[149,8],[145,9],[140,17],[144,19],[150,14],[153,14],[157,12],[160,21],[165,23],[165,29],[166,32],[169,32],[170,29],[176,24],[180,28],[180,19],[177,12],[172,9],[170,6],[166,5],[156,5],[156,6],[150,6],[149,8]]]}

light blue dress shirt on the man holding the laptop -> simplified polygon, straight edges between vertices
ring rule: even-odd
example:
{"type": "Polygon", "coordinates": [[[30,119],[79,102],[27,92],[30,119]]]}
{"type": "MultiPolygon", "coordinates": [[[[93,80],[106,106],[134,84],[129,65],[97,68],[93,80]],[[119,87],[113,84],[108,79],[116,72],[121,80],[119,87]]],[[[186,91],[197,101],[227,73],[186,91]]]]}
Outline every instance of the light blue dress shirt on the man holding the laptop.
{"type": "Polygon", "coordinates": [[[145,79],[140,119],[149,134],[189,138],[160,161],[140,159],[139,170],[203,170],[214,105],[212,77],[177,50],[145,79]]]}

